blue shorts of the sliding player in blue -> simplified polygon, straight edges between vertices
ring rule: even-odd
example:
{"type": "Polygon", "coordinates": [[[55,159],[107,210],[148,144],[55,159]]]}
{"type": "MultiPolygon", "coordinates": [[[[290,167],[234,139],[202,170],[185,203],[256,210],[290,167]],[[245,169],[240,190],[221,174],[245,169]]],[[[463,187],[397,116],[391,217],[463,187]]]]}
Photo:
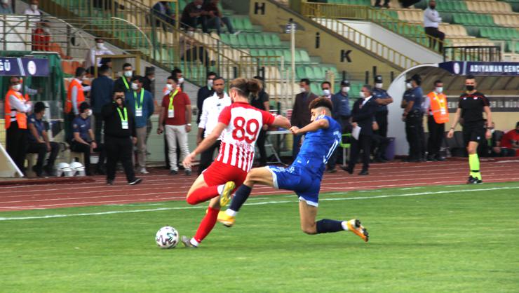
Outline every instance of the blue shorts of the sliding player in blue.
{"type": "Polygon", "coordinates": [[[288,168],[267,166],[272,173],[274,187],[295,191],[299,200],[304,200],[308,205],[318,206],[321,178],[312,174],[305,168],[291,165],[288,168]]]}

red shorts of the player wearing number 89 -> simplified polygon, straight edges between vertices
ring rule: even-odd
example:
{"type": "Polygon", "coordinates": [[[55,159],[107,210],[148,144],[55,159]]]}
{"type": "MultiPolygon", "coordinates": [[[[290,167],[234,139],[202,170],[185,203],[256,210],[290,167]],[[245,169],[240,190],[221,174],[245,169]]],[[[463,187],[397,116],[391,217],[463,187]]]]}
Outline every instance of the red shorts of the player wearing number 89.
{"type": "Polygon", "coordinates": [[[218,161],[214,161],[207,169],[202,172],[203,180],[208,186],[225,184],[232,181],[236,184],[236,188],[241,186],[247,177],[247,172],[242,169],[227,165],[218,161]]]}

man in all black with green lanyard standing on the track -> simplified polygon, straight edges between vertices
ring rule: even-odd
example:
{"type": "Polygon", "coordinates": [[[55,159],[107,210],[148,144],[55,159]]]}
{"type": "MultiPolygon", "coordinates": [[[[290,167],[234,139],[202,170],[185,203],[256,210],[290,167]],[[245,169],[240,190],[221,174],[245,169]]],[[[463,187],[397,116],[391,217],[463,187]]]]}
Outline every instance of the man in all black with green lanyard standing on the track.
{"type": "Polygon", "coordinates": [[[137,142],[135,119],[126,107],[124,92],[116,91],[114,101],[106,104],[101,111],[105,121],[105,147],[107,151],[107,184],[114,185],[117,161],[123,164],[128,184],[135,185],[142,179],[135,177],[132,155],[137,142]]]}

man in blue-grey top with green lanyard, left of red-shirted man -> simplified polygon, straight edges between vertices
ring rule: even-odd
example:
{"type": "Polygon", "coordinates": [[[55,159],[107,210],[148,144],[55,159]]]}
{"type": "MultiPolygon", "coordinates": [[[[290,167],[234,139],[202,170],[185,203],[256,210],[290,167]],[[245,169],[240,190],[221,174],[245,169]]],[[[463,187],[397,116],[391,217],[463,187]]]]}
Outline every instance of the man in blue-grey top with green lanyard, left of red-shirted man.
{"type": "Polygon", "coordinates": [[[126,93],[126,104],[135,117],[135,133],[137,134],[137,165],[138,172],[148,174],[146,170],[146,132],[147,121],[155,111],[154,100],[149,91],[144,90],[142,76],[133,76],[132,91],[126,93]]]}

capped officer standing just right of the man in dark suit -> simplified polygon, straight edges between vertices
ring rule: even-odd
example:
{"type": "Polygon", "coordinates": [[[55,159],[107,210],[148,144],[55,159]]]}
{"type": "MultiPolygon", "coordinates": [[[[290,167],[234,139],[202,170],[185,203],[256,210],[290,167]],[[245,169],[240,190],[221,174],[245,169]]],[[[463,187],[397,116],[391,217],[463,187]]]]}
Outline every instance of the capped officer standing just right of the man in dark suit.
{"type": "MultiPolygon", "coordinates": [[[[393,102],[393,98],[389,96],[382,86],[384,86],[384,83],[382,83],[382,75],[375,76],[373,97],[375,98],[375,102],[378,104],[377,111],[375,112],[375,121],[377,121],[377,125],[379,126],[379,129],[375,130],[375,135],[385,138],[387,137],[387,115],[389,113],[387,105],[393,102]]],[[[377,148],[377,153],[375,154],[375,161],[379,163],[387,161],[385,154],[382,154],[382,150],[382,148],[377,148]]]]}

